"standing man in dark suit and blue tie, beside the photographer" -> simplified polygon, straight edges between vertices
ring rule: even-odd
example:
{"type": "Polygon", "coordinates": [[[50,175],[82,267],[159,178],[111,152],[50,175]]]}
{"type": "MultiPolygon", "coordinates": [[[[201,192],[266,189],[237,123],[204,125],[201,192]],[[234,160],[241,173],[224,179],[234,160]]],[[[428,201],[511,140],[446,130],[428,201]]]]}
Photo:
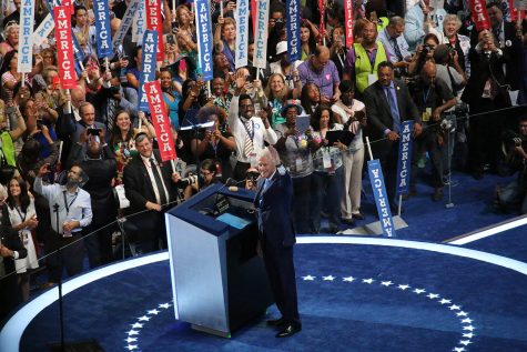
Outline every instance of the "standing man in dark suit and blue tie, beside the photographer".
{"type": "Polygon", "coordinates": [[[394,66],[383,61],[377,69],[378,80],[364,91],[368,129],[367,134],[374,153],[378,155],[386,182],[386,192],[393,210],[395,210],[395,180],[397,172],[397,153],[401,122],[414,120],[414,137],[418,137],[423,128],[420,117],[408,88],[403,81],[394,80],[394,66]]]}

